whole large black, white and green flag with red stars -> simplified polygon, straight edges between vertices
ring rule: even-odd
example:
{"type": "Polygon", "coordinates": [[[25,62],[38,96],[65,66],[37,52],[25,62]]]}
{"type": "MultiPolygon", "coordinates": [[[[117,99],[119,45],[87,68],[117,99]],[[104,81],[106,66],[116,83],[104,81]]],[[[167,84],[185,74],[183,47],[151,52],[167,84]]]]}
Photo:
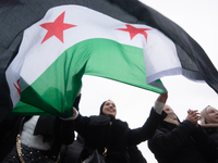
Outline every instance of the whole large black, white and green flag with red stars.
{"type": "Polygon", "coordinates": [[[182,74],[218,92],[199,45],[136,0],[4,2],[0,63],[2,118],[12,110],[70,116],[84,74],[156,92],[166,91],[159,78],[182,74]]]}

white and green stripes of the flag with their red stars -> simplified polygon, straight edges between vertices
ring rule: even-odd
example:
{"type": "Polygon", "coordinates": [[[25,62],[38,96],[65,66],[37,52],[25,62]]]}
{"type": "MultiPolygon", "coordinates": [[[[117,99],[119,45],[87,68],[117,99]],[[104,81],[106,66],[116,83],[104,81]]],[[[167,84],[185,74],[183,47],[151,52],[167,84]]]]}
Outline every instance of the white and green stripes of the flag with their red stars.
{"type": "Polygon", "coordinates": [[[5,74],[14,106],[21,96],[13,112],[39,114],[43,110],[66,116],[83,74],[164,92],[161,83],[155,82],[159,78],[156,74],[170,68],[181,72],[175,48],[157,29],[85,7],[61,5],[24,32],[20,51],[5,74]],[[158,51],[165,55],[157,60],[158,51]],[[160,64],[165,58],[168,67],[160,64]],[[156,87],[147,85],[150,82],[156,87]],[[33,105],[33,111],[24,103],[33,105]]]}

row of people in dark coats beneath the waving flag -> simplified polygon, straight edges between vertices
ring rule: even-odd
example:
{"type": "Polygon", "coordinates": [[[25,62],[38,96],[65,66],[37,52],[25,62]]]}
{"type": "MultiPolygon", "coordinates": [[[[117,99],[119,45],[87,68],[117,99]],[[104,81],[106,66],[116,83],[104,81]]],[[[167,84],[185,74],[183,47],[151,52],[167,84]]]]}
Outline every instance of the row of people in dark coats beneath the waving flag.
{"type": "Polygon", "coordinates": [[[147,141],[158,163],[218,163],[218,111],[210,105],[181,122],[160,93],[145,123],[131,129],[112,100],[84,116],[80,99],[69,118],[9,115],[0,124],[0,162],[147,163],[137,148],[147,141]]]}

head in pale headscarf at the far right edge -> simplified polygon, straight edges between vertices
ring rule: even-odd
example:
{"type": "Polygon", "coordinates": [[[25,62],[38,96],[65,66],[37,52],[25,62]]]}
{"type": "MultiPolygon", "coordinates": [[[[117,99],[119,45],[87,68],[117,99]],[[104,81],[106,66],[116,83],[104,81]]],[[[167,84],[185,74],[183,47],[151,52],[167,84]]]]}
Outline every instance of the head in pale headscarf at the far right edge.
{"type": "Polygon", "coordinates": [[[208,105],[201,112],[201,124],[218,124],[218,111],[208,105]]]}

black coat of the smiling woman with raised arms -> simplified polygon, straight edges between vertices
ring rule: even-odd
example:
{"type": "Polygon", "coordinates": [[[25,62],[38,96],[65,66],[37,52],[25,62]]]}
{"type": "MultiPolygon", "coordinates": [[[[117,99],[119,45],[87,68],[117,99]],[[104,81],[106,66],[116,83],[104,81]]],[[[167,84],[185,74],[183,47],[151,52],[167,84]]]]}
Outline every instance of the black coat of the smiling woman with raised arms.
{"type": "Polygon", "coordinates": [[[85,149],[87,149],[82,151],[81,161],[93,150],[97,149],[102,153],[107,148],[107,163],[129,163],[128,147],[150,138],[166,115],[165,112],[159,115],[152,110],[142,127],[130,129],[128,123],[107,115],[86,117],[78,114],[75,120],[75,130],[85,139],[85,149]]]}

